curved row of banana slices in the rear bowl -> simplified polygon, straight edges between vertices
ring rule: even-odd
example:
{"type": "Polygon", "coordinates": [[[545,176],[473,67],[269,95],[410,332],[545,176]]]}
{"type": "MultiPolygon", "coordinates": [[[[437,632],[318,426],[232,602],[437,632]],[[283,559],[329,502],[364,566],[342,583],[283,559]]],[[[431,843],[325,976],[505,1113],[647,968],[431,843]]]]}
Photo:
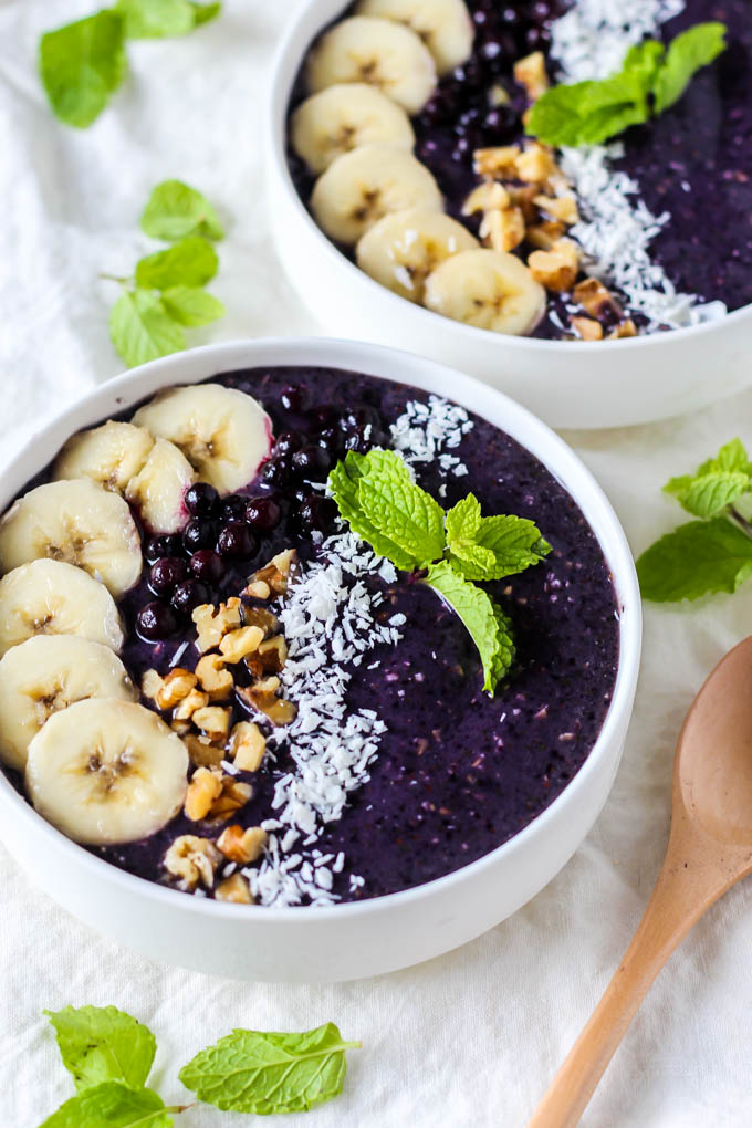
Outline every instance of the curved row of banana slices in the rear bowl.
{"type": "Polygon", "coordinates": [[[312,94],[292,116],[291,143],[318,176],[316,221],[355,247],[362,271],[434,312],[522,335],[543,314],[543,288],[515,255],[481,247],[444,213],[439,185],[413,155],[408,114],[471,49],[462,0],[362,0],[309,55],[312,94]]]}

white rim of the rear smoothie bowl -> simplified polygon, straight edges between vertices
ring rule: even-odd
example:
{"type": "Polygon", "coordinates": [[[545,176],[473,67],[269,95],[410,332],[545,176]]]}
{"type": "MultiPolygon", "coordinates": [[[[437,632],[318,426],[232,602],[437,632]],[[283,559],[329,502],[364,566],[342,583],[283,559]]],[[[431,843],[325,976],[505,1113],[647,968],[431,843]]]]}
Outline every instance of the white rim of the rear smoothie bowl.
{"type": "MultiPolygon", "coordinates": [[[[574,351],[575,353],[589,356],[601,355],[601,350],[604,346],[610,351],[638,347],[644,349],[646,346],[654,349],[666,347],[667,342],[674,340],[683,341],[687,338],[702,336],[705,334],[722,332],[723,327],[729,321],[736,323],[749,319],[752,323],[752,303],[747,303],[745,306],[741,306],[738,309],[725,314],[723,317],[710,321],[702,321],[699,325],[688,325],[675,329],[667,329],[662,333],[643,334],[635,337],[619,337],[613,341],[609,341],[608,338],[599,341],[599,349],[595,351],[592,347],[592,341],[549,341],[530,336],[515,336],[513,334],[493,333],[490,329],[481,329],[475,325],[455,321],[442,314],[436,314],[431,309],[426,309],[424,306],[418,306],[416,302],[408,301],[407,298],[402,298],[392,290],[389,290],[387,287],[375,282],[355,263],[351,262],[350,258],[343,255],[338,247],[335,246],[335,244],[324,233],[321,228],[315,221],[310,211],[295,190],[285,153],[286,111],[292,86],[285,78],[284,72],[292,56],[294,56],[293,61],[297,63],[294,73],[298,72],[298,69],[302,63],[302,52],[308,49],[310,41],[301,47],[301,28],[307,24],[310,14],[317,7],[331,2],[333,0],[302,0],[298,9],[292,15],[290,23],[287,24],[287,27],[277,44],[272,60],[272,82],[266,103],[267,112],[264,127],[265,148],[267,153],[267,178],[269,175],[274,175],[276,177],[277,187],[280,187],[285,194],[287,203],[299,212],[307,226],[308,233],[316,241],[319,253],[325,255],[335,268],[343,271],[344,282],[351,287],[363,287],[364,298],[366,300],[369,298],[380,298],[388,305],[391,305],[395,309],[397,309],[397,307],[393,303],[399,302],[399,309],[401,309],[404,315],[407,317],[409,317],[410,314],[404,307],[412,307],[414,315],[418,318],[418,324],[423,321],[424,328],[427,332],[431,331],[432,326],[435,328],[436,318],[440,318],[442,323],[444,323],[445,332],[455,333],[458,337],[465,338],[468,342],[474,342],[476,345],[487,343],[489,349],[520,349],[523,352],[531,352],[533,354],[536,352],[540,352],[541,355],[558,353],[561,347],[566,347],[568,353],[574,351]]],[[[343,8],[347,7],[346,0],[334,0],[334,2],[340,5],[343,8]]],[[[326,17],[321,21],[316,34],[318,34],[318,32],[326,26],[330,18],[331,17],[326,17]]]]}

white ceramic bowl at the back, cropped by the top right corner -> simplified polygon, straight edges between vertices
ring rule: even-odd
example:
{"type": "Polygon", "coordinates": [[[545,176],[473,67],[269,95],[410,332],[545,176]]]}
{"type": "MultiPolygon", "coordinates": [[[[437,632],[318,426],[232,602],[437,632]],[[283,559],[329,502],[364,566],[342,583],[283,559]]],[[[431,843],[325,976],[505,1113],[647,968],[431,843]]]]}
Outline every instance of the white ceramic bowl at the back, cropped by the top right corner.
{"type": "Polygon", "coordinates": [[[290,18],[266,122],[268,212],[282,263],[326,333],[419,352],[517,399],[556,428],[646,423],[705,407],[752,384],[752,306],[648,337],[534,341],[476,329],[399,298],[345,258],[301,203],[285,159],[285,118],[306,52],[346,7],[308,0],[290,18]]]}

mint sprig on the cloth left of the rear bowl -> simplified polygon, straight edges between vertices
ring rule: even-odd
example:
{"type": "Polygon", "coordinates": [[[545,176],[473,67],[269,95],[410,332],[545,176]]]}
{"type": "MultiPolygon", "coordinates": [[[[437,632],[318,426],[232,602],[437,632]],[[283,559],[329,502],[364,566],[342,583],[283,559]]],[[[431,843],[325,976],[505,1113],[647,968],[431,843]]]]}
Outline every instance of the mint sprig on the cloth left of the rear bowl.
{"type": "Polygon", "coordinates": [[[109,335],[129,368],[180,352],[186,328],[210,325],[225,312],[203,289],[219,266],[209,237],[222,237],[206,197],[180,180],[165,180],[151,193],[141,226],[178,241],[141,258],[132,277],[105,275],[123,288],[109,312],[109,335]]]}

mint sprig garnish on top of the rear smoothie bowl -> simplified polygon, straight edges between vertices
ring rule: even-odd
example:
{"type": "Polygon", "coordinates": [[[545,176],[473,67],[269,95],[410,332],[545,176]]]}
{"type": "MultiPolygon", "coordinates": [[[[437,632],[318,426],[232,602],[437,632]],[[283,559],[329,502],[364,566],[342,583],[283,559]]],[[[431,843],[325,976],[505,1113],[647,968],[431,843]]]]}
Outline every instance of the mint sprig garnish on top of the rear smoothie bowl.
{"type": "Polygon", "coordinates": [[[551,87],[531,106],[525,131],[551,146],[602,144],[676,103],[702,67],[725,51],[726,26],[697,24],[666,50],[646,39],[600,80],[551,87]]]}

